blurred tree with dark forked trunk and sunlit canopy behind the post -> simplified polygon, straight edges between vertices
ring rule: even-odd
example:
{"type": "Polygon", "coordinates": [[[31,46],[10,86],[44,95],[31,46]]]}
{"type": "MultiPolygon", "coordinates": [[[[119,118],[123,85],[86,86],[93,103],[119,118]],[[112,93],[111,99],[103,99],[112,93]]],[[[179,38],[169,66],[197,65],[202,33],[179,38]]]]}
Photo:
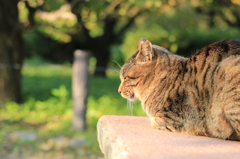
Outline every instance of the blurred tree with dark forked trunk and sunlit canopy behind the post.
{"type": "MultiPolygon", "coordinates": [[[[73,53],[74,49],[90,50],[97,60],[95,75],[106,76],[111,46],[121,44],[124,34],[135,24],[135,20],[147,16],[142,13],[153,11],[157,3],[134,0],[43,1],[42,7],[38,7],[35,22],[33,18],[28,18],[28,21],[35,24],[38,32],[59,43],[59,46],[71,46],[69,48],[72,50],[68,50],[68,53],[73,53]]],[[[29,13],[33,10],[30,7],[33,6],[25,5],[29,13]]]]}

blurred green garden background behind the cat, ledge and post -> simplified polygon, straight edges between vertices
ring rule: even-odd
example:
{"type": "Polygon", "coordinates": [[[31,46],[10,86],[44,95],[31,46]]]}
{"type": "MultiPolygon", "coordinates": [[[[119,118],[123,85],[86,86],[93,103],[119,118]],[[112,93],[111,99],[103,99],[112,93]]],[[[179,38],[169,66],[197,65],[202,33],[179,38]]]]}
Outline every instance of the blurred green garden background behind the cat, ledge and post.
{"type": "Polygon", "coordinates": [[[117,93],[118,64],[141,37],[186,57],[239,39],[240,0],[0,1],[0,158],[103,158],[98,119],[145,116],[117,93]],[[72,124],[76,50],[89,53],[82,129],[72,124]]]}

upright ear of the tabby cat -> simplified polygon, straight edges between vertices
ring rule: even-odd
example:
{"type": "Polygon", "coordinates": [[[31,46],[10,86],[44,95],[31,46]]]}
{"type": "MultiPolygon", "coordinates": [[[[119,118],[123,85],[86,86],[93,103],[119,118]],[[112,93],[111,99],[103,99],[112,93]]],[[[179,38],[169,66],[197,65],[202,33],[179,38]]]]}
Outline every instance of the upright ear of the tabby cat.
{"type": "Polygon", "coordinates": [[[154,57],[152,43],[145,38],[141,38],[138,43],[137,56],[142,62],[151,61],[154,57]]]}

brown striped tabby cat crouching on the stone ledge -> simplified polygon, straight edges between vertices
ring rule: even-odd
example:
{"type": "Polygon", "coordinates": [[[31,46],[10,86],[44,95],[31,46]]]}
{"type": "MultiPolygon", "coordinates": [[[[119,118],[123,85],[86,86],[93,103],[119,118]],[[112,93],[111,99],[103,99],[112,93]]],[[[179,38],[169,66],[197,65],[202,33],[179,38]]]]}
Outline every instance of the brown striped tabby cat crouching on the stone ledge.
{"type": "Polygon", "coordinates": [[[153,127],[240,140],[240,40],[184,58],[142,38],[120,79],[118,92],[140,100],[153,127]]]}

